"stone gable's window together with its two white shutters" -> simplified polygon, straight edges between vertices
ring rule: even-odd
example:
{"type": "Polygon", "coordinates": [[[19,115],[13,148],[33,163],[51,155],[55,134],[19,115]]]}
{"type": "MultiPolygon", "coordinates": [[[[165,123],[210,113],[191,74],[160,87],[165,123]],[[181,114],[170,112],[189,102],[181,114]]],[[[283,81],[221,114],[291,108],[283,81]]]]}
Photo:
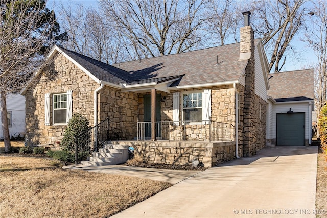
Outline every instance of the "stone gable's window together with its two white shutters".
{"type": "Polygon", "coordinates": [[[50,94],[45,93],[44,101],[44,124],[65,125],[72,117],[72,91],[66,93],[50,94]],[[52,105],[50,102],[52,101],[52,105]],[[50,117],[52,116],[52,122],[50,117]]]}

